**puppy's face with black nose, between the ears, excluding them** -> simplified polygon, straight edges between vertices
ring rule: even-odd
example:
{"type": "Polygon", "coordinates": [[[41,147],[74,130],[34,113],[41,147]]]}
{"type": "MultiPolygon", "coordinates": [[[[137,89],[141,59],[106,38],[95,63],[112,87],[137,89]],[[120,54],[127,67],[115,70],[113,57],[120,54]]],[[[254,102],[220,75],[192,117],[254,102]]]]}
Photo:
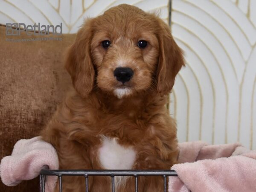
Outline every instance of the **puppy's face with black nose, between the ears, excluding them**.
{"type": "Polygon", "coordinates": [[[98,87],[122,98],[147,90],[153,83],[159,56],[157,25],[139,15],[118,18],[111,13],[94,24],[91,54],[98,87]]]}

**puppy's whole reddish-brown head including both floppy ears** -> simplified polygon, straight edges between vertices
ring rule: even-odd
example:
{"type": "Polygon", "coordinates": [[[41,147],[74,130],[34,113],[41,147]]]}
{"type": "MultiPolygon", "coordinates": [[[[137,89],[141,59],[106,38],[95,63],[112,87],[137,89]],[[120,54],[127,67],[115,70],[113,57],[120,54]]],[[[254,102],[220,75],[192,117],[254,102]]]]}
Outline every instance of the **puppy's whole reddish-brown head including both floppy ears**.
{"type": "Polygon", "coordinates": [[[66,68],[81,96],[97,86],[120,99],[148,89],[169,93],[183,65],[169,26],[123,4],[84,23],[69,49],[66,68]]]}

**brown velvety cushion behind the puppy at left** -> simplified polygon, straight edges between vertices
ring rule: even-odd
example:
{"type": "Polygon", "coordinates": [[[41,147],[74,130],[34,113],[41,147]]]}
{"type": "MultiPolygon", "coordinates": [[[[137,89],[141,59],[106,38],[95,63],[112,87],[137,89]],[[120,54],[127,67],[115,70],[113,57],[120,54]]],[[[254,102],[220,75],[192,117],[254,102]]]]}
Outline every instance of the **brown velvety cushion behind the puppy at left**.
{"type": "MultiPolygon", "coordinates": [[[[9,42],[6,38],[38,36],[27,36],[24,32],[15,37],[5,34],[5,26],[0,26],[1,159],[12,153],[18,140],[37,136],[61,102],[71,84],[63,66],[63,55],[75,38],[74,34],[66,34],[58,36],[62,41],[9,42]]],[[[15,187],[0,182],[0,189],[36,192],[39,182],[38,179],[23,181],[15,187]]]]}

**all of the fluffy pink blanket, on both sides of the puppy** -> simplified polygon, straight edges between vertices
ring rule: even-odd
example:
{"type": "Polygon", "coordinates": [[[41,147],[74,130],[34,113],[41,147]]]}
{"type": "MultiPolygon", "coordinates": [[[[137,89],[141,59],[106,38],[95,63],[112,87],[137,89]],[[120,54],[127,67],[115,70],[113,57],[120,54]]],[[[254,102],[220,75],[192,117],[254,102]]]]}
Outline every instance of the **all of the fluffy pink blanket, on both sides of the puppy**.
{"type": "MultiPolygon", "coordinates": [[[[179,162],[172,167],[178,177],[169,177],[169,192],[256,192],[256,151],[240,144],[208,145],[180,143],[179,162]]],[[[58,155],[49,143],[35,137],[18,141],[11,156],[0,163],[0,176],[7,186],[38,177],[44,166],[58,169],[58,155]]],[[[47,177],[52,192],[57,177],[47,177]]]]}

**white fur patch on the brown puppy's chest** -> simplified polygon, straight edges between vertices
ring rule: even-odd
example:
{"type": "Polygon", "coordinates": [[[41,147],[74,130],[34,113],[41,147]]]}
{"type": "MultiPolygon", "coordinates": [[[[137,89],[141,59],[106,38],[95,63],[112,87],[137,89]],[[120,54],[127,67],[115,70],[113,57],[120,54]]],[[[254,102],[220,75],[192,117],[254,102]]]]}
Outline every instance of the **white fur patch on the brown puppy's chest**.
{"type": "Polygon", "coordinates": [[[131,169],[136,158],[132,147],[123,147],[116,138],[102,137],[99,160],[104,169],[131,169]]]}

